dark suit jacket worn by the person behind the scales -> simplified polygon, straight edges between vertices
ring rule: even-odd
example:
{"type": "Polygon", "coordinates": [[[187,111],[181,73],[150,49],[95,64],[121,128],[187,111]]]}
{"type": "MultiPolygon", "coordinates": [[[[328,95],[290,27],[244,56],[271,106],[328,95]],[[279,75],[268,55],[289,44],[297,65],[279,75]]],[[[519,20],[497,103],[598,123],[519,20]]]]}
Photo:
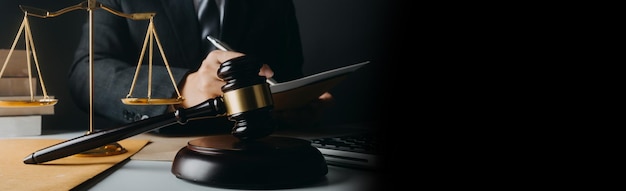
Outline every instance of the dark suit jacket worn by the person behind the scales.
{"type": "MultiPolygon", "coordinates": [[[[196,70],[208,52],[200,51],[198,20],[192,0],[100,0],[123,13],[156,13],[154,26],[176,84],[196,70]]],[[[277,81],[302,76],[302,47],[291,0],[225,0],[221,40],[255,56],[274,70],[277,81]]],[[[94,12],[94,113],[119,123],[163,114],[167,106],[129,106],[120,99],[129,92],[148,29],[148,20],[131,20],[105,9],[94,12]]],[[[77,105],[89,109],[89,22],[69,72],[70,91],[77,105]]],[[[154,43],[152,98],[176,95],[164,59],[154,43]]],[[[148,57],[132,92],[147,97],[148,57]]]]}

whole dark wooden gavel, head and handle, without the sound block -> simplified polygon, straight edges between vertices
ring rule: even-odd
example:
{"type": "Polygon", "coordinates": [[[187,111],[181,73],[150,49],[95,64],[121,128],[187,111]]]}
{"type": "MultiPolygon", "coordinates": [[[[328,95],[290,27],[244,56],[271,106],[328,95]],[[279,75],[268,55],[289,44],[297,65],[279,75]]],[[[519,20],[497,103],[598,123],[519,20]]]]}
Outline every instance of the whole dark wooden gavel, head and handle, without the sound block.
{"type": "Polygon", "coordinates": [[[223,96],[208,99],[190,108],[102,131],[96,131],[43,148],[24,158],[25,164],[39,164],[88,151],[158,128],[186,124],[189,120],[226,115],[234,121],[231,134],[242,141],[270,135],[275,127],[271,118],[273,100],[265,77],[259,76],[261,62],[251,56],[230,59],[220,66],[218,76],[226,84],[223,96]]]}

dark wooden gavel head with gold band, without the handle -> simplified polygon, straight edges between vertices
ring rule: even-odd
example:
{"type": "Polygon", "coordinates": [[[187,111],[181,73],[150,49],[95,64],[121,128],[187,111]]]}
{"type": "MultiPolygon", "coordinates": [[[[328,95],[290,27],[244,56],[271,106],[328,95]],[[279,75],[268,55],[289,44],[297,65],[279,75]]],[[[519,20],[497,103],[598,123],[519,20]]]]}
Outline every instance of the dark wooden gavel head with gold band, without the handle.
{"type": "Polygon", "coordinates": [[[226,114],[235,125],[231,134],[240,140],[254,140],[274,131],[272,93],[265,77],[259,76],[262,63],[251,56],[230,59],[220,66],[226,114]]]}

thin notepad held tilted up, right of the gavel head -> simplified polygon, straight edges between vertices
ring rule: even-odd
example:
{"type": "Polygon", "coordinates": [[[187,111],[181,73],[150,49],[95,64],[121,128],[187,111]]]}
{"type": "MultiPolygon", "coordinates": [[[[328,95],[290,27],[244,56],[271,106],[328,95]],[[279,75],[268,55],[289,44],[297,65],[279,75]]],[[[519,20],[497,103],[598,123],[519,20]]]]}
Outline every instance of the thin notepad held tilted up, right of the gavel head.
{"type": "Polygon", "coordinates": [[[288,110],[302,107],[317,99],[324,92],[339,84],[348,74],[368,64],[369,61],[352,64],[295,80],[270,85],[274,110],[288,110]]]}

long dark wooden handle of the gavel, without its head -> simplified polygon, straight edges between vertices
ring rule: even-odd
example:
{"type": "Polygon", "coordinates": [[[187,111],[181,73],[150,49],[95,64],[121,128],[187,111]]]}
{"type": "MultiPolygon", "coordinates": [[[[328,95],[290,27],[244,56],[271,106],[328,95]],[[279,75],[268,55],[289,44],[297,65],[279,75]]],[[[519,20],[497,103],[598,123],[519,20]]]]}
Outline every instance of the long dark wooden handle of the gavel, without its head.
{"type": "Polygon", "coordinates": [[[150,117],[144,120],[124,124],[120,127],[85,134],[67,141],[35,151],[24,158],[25,164],[39,164],[78,154],[103,145],[114,143],[151,130],[167,127],[176,123],[185,124],[189,120],[218,116],[226,113],[222,97],[208,99],[187,109],[150,117]]]}

